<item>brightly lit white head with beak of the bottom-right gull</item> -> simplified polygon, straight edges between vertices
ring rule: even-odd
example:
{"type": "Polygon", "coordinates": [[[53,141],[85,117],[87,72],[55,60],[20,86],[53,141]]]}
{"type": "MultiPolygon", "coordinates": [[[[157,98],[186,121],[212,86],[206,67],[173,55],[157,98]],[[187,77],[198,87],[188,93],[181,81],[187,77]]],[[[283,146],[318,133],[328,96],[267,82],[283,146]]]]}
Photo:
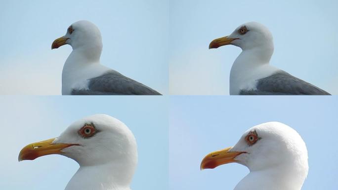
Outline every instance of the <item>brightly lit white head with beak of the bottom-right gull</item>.
{"type": "Polygon", "coordinates": [[[274,171],[277,176],[297,178],[300,187],[308,172],[305,142],[294,129],[279,122],[254,126],[236,145],[209,153],[201,170],[232,162],[247,166],[250,172],[274,171]]]}

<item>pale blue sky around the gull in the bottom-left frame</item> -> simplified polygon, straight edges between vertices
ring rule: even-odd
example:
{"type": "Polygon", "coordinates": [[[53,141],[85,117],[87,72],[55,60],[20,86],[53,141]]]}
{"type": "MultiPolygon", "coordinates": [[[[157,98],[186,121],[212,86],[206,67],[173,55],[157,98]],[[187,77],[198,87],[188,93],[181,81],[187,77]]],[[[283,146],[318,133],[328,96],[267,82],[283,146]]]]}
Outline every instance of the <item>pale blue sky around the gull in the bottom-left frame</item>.
{"type": "Polygon", "coordinates": [[[105,113],[124,122],[138,146],[132,190],[168,190],[168,99],[163,96],[1,96],[1,190],[63,190],[79,165],[61,155],[18,162],[25,145],[57,137],[74,121],[105,113]]]}

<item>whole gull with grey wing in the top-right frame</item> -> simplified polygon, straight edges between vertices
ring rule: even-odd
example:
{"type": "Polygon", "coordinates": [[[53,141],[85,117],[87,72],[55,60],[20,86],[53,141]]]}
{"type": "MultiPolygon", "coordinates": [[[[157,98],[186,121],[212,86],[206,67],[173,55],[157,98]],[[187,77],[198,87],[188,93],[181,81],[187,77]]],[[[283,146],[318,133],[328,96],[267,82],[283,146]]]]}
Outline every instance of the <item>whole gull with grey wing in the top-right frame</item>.
{"type": "Polygon", "coordinates": [[[230,95],[330,95],[328,92],[269,65],[272,34],[257,22],[242,24],[229,36],[213,40],[209,49],[242,48],[230,71],[230,95]]]}

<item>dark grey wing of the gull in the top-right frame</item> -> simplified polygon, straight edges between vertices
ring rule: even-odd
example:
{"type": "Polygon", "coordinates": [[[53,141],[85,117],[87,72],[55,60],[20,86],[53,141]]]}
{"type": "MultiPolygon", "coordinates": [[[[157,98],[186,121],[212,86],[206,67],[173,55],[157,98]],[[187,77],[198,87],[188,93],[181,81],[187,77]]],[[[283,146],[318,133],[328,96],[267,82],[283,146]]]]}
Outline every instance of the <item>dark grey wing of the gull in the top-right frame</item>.
{"type": "Polygon", "coordinates": [[[258,80],[257,90],[242,90],[240,95],[330,95],[285,71],[258,80]]]}

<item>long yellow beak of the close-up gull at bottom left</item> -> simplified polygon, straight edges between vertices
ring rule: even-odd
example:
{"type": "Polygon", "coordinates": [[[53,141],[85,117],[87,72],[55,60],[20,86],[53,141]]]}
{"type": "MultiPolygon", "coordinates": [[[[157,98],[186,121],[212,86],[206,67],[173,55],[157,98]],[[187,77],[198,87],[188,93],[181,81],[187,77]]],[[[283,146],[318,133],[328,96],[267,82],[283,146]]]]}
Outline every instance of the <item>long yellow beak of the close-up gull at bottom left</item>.
{"type": "Polygon", "coordinates": [[[34,160],[40,156],[48,154],[61,154],[63,148],[80,144],[53,144],[54,139],[28,144],[19,153],[19,161],[34,160]]]}

